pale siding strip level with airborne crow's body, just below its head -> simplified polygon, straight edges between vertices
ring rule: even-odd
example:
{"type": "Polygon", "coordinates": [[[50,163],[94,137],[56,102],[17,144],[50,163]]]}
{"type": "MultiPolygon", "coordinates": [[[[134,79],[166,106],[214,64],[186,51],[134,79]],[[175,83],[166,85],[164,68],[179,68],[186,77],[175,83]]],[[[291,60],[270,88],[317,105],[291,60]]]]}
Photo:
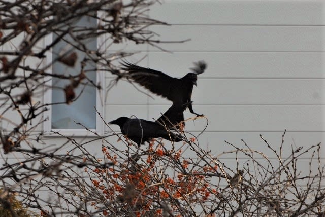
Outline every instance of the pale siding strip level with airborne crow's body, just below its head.
{"type": "MultiPolygon", "coordinates": [[[[107,83],[110,81],[112,80],[106,80],[107,83]]],[[[323,79],[199,78],[191,99],[195,104],[217,105],[324,104],[324,82],[323,79]]],[[[136,83],[122,80],[108,91],[106,99],[107,104],[171,104],[169,100],[147,91],[136,83]]]]}

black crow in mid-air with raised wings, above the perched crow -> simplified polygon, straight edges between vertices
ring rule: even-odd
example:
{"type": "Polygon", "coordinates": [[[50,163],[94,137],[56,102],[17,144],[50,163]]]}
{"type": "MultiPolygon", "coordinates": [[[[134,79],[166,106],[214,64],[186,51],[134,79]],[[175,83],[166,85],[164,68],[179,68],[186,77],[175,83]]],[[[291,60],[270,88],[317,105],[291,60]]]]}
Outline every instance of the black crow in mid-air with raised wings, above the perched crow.
{"type": "Polygon", "coordinates": [[[161,71],[144,68],[128,62],[123,63],[124,67],[122,69],[127,71],[129,77],[136,83],[157,95],[171,100],[173,102],[171,107],[173,111],[177,111],[177,113],[183,112],[188,107],[191,113],[203,116],[193,111],[191,96],[193,85],[197,86],[197,75],[204,73],[207,64],[204,61],[194,64],[195,67],[191,68],[192,72],[180,79],[172,78],[161,71]]]}

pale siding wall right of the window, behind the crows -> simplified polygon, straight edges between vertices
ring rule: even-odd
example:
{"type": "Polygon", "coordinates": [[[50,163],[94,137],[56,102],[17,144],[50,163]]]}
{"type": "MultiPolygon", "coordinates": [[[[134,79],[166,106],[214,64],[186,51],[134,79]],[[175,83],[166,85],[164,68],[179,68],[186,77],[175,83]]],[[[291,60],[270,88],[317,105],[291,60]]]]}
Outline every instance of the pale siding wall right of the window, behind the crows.
{"type": "MultiPolygon", "coordinates": [[[[142,56],[129,60],[147,55],[139,65],[174,77],[205,60],[208,68],[192,95],[194,111],[209,120],[200,146],[219,155],[233,149],[224,140],[244,148],[243,139],[252,149],[268,151],[259,134],[277,149],[286,129],[283,156],[288,156],[291,144],[309,147],[325,137],[324,9],[322,1],[165,0],[149,14],[172,25],[151,29],[162,41],[190,41],[160,44],[170,52],[130,45],[128,50],[142,56]]],[[[108,93],[106,119],[158,118],[171,102],[152,97],[120,82],[108,93]]],[[[186,130],[198,135],[205,125],[204,119],[188,121],[186,130]]],[[[235,159],[227,161],[236,166],[235,159]]]]}

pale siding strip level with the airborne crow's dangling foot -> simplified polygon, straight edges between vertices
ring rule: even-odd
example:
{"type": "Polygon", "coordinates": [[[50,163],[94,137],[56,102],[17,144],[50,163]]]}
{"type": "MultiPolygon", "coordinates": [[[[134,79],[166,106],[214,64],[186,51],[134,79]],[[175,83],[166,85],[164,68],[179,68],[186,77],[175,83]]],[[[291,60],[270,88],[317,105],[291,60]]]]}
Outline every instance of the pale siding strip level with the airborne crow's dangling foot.
{"type": "MultiPolygon", "coordinates": [[[[149,105],[149,117],[158,118],[170,105],[149,105]]],[[[325,131],[324,105],[196,105],[208,118],[207,131],[325,131]]],[[[185,119],[194,117],[188,110],[185,119]]],[[[186,122],[187,131],[202,131],[205,118],[186,122]]]]}

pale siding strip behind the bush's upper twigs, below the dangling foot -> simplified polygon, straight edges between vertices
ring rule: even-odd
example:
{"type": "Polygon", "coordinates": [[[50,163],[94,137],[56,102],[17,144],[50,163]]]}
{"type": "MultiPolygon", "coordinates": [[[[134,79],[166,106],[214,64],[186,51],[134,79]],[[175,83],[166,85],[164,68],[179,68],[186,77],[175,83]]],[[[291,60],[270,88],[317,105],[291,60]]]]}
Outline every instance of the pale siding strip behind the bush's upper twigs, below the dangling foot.
{"type": "MultiPolygon", "coordinates": [[[[116,131],[119,133],[119,131],[116,131]]],[[[111,135],[112,131],[107,131],[106,135],[111,135]]],[[[234,159],[235,154],[225,154],[226,152],[232,152],[235,153],[236,149],[232,147],[230,144],[226,143],[225,141],[228,141],[229,143],[233,144],[234,146],[247,150],[248,147],[251,150],[262,152],[265,155],[268,156],[269,159],[276,159],[276,154],[267,147],[267,144],[261,139],[259,136],[260,133],[257,132],[204,132],[203,134],[200,134],[199,132],[186,132],[186,137],[197,137],[196,144],[193,144],[193,147],[198,150],[200,149],[205,150],[209,152],[209,154],[213,157],[222,158],[222,159],[234,159]],[[246,144],[245,146],[244,142],[241,141],[243,139],[246,144]],[[196,146],[197,145],[197,146],[196,146]]],[[[267,142],[270,144],[271,148],[273,150],[276,150],[277,153],[280,153],[280,146],[282,142],[282,134],[283,132],[262,132],[261,133],[263,138],[267,140],[267,142]]],[[[291,145],[293,145],[293,149],[296,150],[298,147],[303,147],[304,150],[307,148],[318,144],[320,141],[322,141],[325,138],[325,133],[315,133],[315,132],[303,132],[303,133],[297,133],[297,132],[286,132],[284,136],[284,142],[282,146],[282,157],[287,158],[289,157],[291,152],[291,145]]],[[[117,141],[118,136],[110,136],[107,138],[112,144],[114,144],[115,147],[120,147],[121,150],[123,150],[125,139],[122,139],[122,141],[117,141]]],[[[173,145],[168,140],[162,140],[162,142],[165,144],[165,148],[167,150],[171,150],[173,145]]],[[[156,143],[157,144],[157,143],[156,143]]],[[[146,149],[148,146],[148,143],[145,144],[145,146],[141,146],[143,149],[146,149]]],[[[175,149],[182,149],[182,156],[184,158],[196,158],[196,153],[189,149],[190,147],[188,144],[185,144],[183,146],[183,142],[175,142],[175,149]]],[[[323,147],[320,149],[320,154],[324,154],[325,150],[323,147]]],[[[256,159],[263,158],[262,155],[259,155],[257,153],[254,154],[254,157],[256,159]]],[[[241,155],[241,158],[247,159],[247,156],[241,155]]],[[[309,159],[309,155],[304,155],[301,157],[301,159],[309,159]]]]}

